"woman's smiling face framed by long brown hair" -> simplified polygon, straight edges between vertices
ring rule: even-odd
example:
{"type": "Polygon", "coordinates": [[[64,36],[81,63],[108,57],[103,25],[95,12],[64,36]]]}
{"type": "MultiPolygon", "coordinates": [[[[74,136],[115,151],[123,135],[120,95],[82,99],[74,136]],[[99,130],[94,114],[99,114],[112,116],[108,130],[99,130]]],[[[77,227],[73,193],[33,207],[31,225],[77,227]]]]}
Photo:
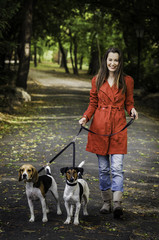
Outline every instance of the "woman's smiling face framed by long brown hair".
{"type": "Polygon", "coordinates": [[[107,57],[107,68],[110,72],[115,72],[119,65],[119,54],[110,52],[107,57]]]}

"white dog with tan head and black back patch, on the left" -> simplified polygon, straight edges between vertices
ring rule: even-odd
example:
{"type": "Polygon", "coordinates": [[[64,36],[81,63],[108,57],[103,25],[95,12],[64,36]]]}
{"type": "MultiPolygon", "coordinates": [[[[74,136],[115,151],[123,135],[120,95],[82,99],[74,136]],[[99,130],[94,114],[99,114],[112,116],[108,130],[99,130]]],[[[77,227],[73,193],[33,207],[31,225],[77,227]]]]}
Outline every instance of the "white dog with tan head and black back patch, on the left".
{"type": "Polygon", "coordinates": [[[26,183],[26,195],[28,200],[28,205],[30,208],[30,220],[29,222],[34,222],[34,207],[33,200],[40,199],[43,212],[43,222],[47,222],[47,213],[49,209],[46,204],[45,195],[50,190],[57,202],[57,214],[61,215],[61,208],[59,203],[59,195],[57,191],[57,184],[55,179],[51,176],[51,170],[49,166],[45,167],[46,175],[39,176],[35,167],[30,164],[24,164],[19,169],[19,181],[24,180],[26,183]]]}

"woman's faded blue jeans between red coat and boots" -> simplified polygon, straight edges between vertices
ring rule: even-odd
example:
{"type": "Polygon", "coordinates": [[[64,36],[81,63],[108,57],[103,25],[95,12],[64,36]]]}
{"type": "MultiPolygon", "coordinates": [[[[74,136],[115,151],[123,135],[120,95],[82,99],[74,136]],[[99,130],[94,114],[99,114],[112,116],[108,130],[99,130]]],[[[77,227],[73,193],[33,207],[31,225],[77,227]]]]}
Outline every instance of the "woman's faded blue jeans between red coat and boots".
{"type": "Polygon", "coordinates": [[[97,155],[99,164],[100,190],[123,192],[123,159],[124,154],[111,154],[111,165],[109,155],[97,155]],[[111,170],[111,173],[110,173],[111,170]]]}

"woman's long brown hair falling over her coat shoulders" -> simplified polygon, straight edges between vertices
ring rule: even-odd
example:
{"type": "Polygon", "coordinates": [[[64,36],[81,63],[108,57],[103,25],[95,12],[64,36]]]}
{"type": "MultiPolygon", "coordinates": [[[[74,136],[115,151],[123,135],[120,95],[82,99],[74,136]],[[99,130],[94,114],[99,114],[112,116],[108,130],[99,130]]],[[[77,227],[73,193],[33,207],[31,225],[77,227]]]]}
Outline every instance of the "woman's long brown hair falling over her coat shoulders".
{"type": "Polygon", "coordinates": [[[103,85],[103,83],[108,79],[109,76],[109,70],[107,68],[107,58],[108,54],[112,53],[118,53],[119,54],[119,65],[117,70],[115,71],[115,84],[119,89],[122,89],[122,93],[126,92],[126,84],[124,80],[124,74],[123,74],[123,57],[122,53],[118,48],[109,48],[101,62],[101,67],[99,69],[98,75],[97,75],[97,81],[96,81],[96,86],[97,86],[97,91],[99,91],[100,87],[103,85]]]}

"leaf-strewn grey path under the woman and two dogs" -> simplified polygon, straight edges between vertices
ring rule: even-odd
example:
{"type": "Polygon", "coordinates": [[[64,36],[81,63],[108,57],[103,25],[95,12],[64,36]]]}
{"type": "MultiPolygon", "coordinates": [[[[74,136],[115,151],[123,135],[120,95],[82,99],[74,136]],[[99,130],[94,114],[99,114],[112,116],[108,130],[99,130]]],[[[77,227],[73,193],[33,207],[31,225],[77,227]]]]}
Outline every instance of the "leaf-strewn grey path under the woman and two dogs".
{"type": "Polygon", "coordinates": [[[107,239],[157,240],[159,220],[159,126],[139,112],[139,120],[128,129],[128,154],[125,156],[124,216],[101,215],[98,165],[94,154],[85,151],[87,133],[76,141],[76,165],[86,160],[84,179],[90,187],[89,216],[80,214],[80,225],[64,225],[65,179],[60,168],[72,165],[72,148],[51,165],[58,184],[63,214],[56,215],[55,201],[48,195],[49,221],[42,223],[41,206],[35,202],[35,223],[29,223],[29,208],[24,183],[18,182],[18,169],[31,163],[37,169],[66,146],[79,130],[78,119],[89,101],[90,82],[55,79],[53,75],[31,72],[28,91],[32,102],[15,111],[3,124],[0,143],[0,238],[14,239],[107,239]],[[38,74],[38,75],[37,75],[38,74]],[[59,85],[57,85],[57,81],[59,85]],[[55,84],[56,83],[56,84],[55,84]],[[69,83],[69,84],[68,84],[69,83]],[[75,83],[77,83],[75,85],[75,83]],[[6,130],[7,129],[7,130],[6,130]]]}

